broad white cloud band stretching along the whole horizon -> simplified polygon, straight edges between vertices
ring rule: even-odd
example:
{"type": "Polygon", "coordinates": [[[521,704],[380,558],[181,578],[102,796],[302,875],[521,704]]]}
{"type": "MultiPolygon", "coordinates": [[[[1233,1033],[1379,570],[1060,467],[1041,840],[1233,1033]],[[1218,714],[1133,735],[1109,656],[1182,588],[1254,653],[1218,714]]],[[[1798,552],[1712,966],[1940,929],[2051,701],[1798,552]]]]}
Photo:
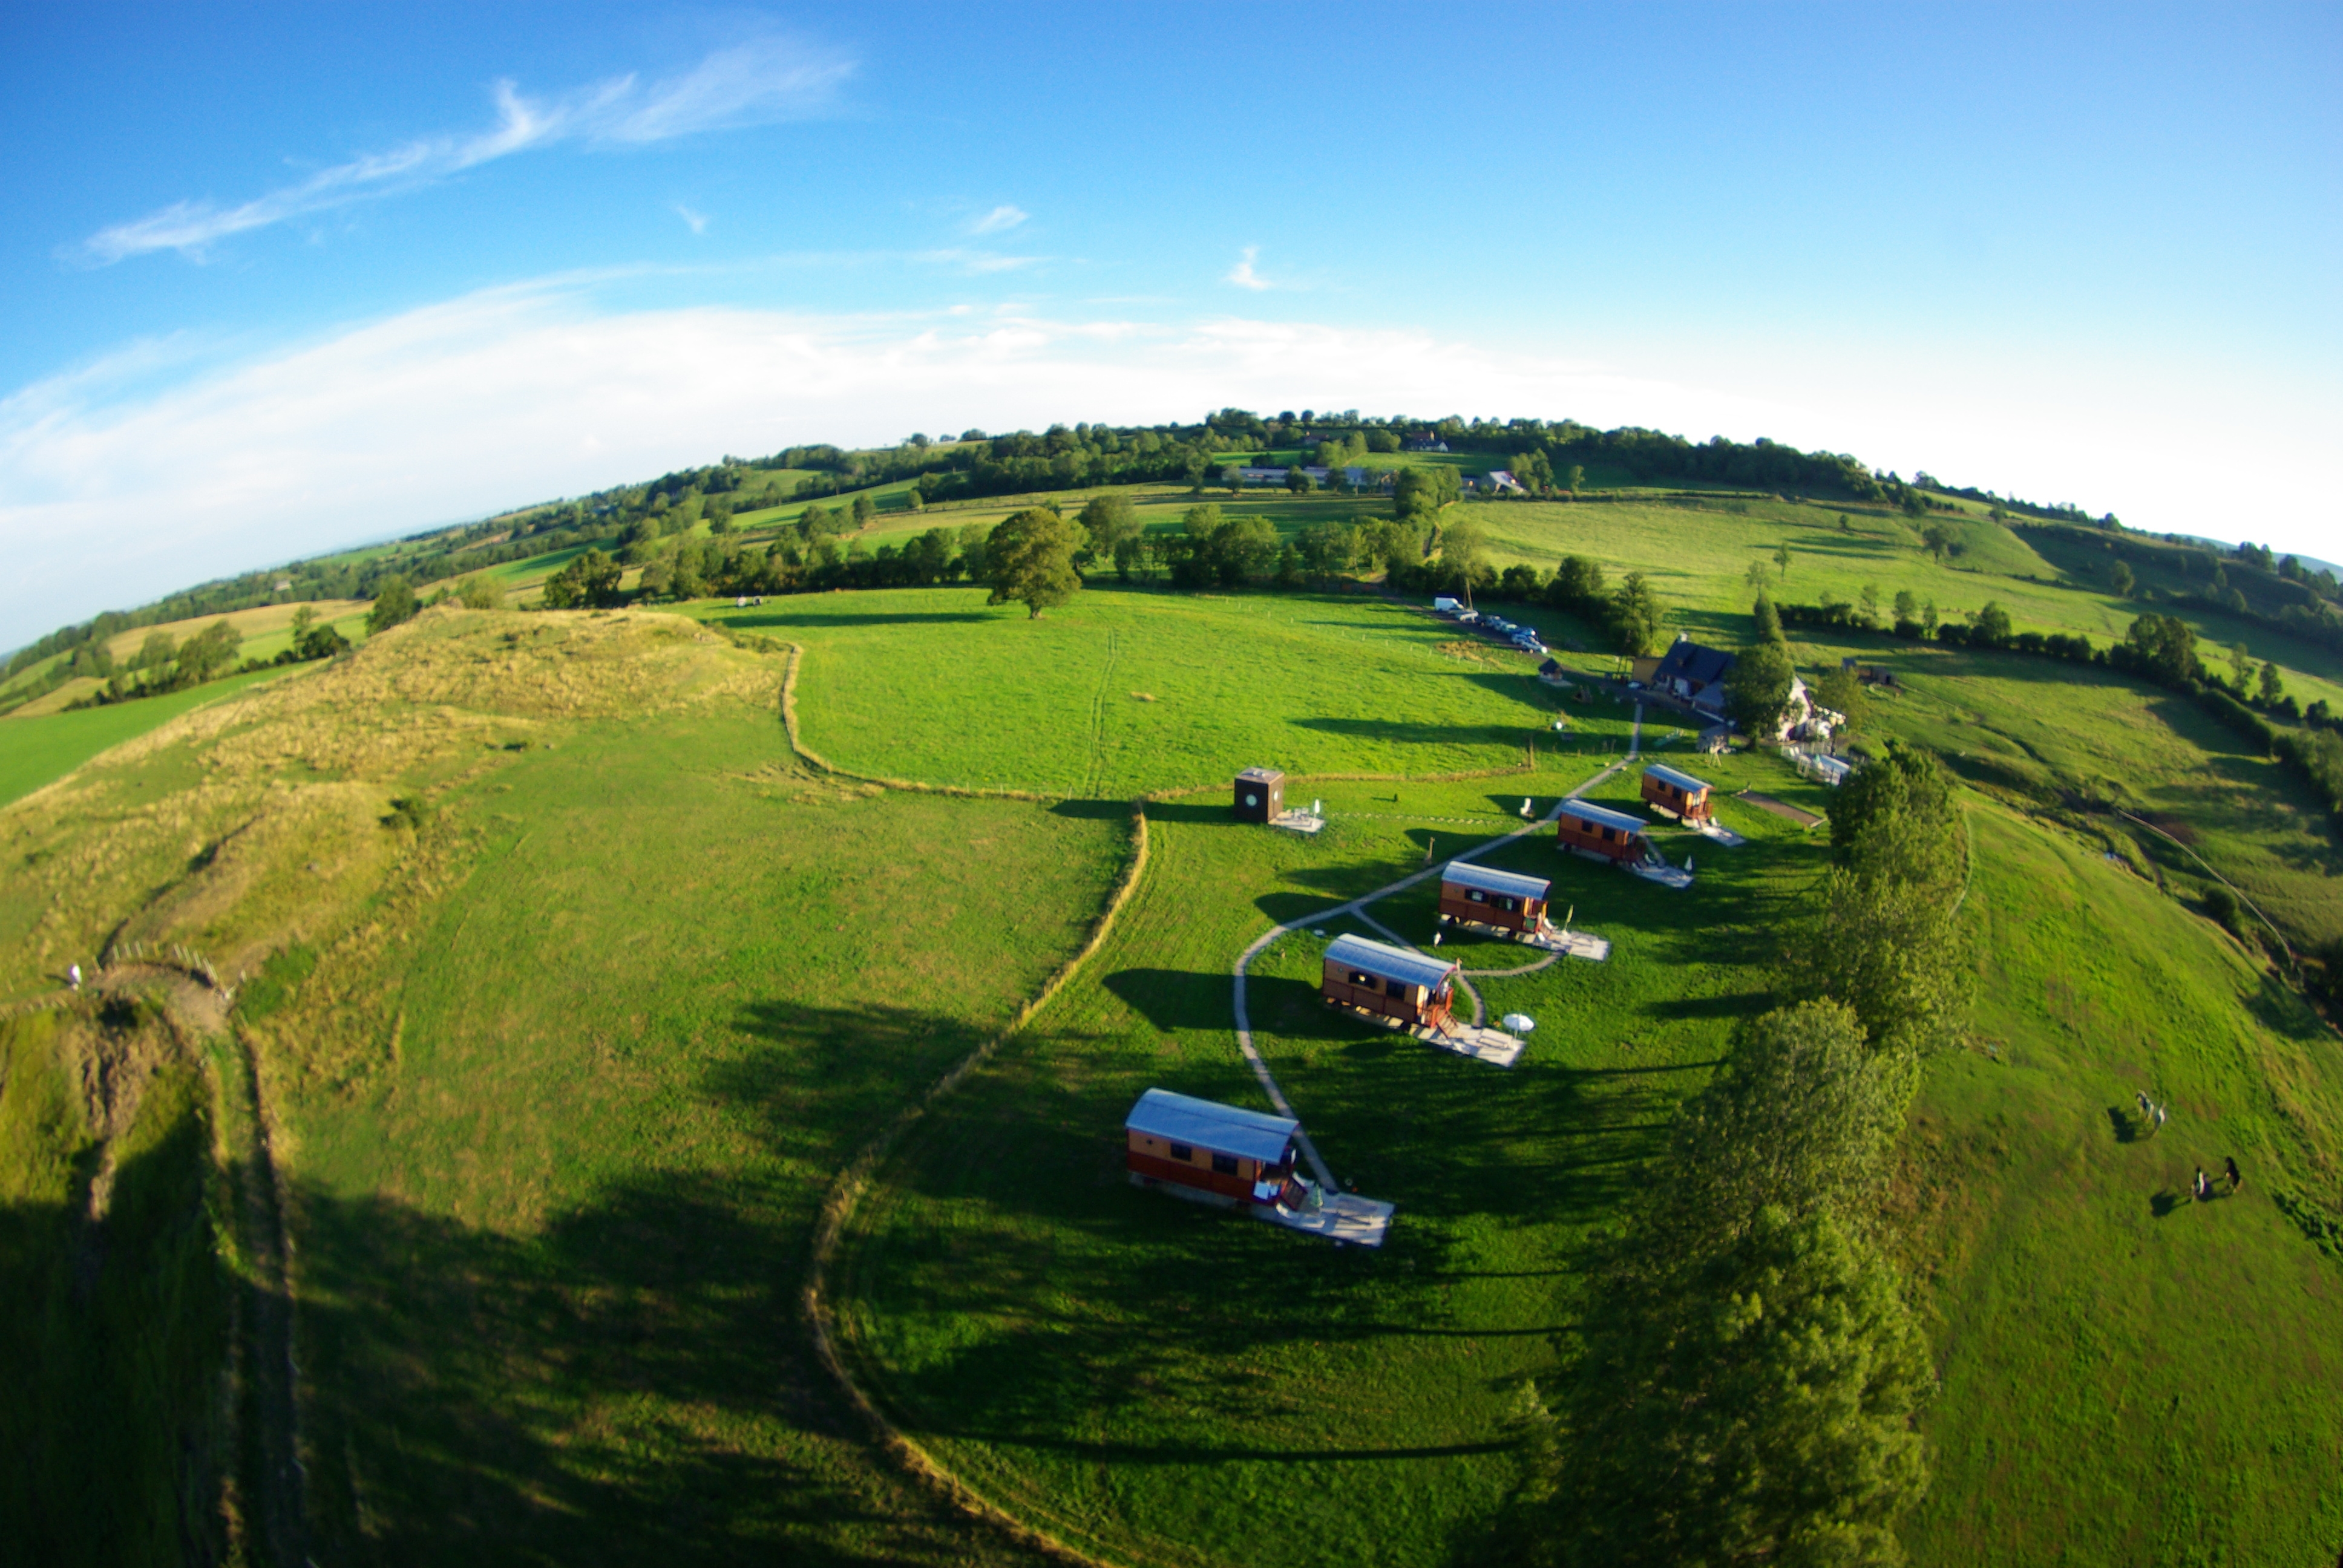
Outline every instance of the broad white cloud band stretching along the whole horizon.
{"type": "MultiPolygon", "coordinates": [[[[199,347],[199,345],[197,345],[199,347]]],[[[940,427],[1132,424],[1246,408],[1535,415],[1706,438],[1774,436],[2076,499],[2156,530],[2334,558],[2310,459],[2327,403],[2174,401],[2104,387],[2088,415],[2008,366],[1914,387],[1846,366],[1682,361],[1671,375],[1410,328],[1052,319],[935,309],[607,314],[574,279],[466,295],[234,366],[141,345],[0,401],[0,647],[105,607],[501,506],[583,495],[722,452],[888,443],[940,427]],[[169,382],[157,391],[157,382],[169,382]],[[2170,443],[2174,420],[2191,429],[2170,443]],[[2202,452],[2202,459],[2191,457],[2202,452]],[[2306,499],[2310,497],[2310,499],[2306,499]]],[[[2221,398],[2231,389],[2219,389],[2221,398]]]]}

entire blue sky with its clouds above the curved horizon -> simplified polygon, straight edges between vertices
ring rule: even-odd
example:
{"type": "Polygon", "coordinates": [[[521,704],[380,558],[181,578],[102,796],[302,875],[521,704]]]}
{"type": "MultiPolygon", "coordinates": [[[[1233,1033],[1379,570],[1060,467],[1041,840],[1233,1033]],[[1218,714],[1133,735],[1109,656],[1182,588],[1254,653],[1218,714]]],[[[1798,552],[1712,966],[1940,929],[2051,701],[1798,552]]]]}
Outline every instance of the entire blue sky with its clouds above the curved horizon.
{"type": "Polygon", "coordinates": [[[0,647],[792,441],[1774,436],[2343,555],[2336,7],[9,7],[0,647]]]}

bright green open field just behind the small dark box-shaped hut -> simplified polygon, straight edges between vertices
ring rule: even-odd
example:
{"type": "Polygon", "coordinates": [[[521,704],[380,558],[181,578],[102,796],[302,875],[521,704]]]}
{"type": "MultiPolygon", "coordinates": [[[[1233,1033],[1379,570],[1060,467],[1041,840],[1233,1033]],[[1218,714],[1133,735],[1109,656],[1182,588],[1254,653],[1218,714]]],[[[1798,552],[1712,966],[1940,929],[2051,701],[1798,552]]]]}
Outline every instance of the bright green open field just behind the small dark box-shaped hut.
{"type": "Polygon", "coordinates": [[[691,612],[806,645],[808,745],[935,783],[1127,799],[1251,764],[1495,769],[1558,705],[1535,661],[1443,654],[1455,628],[1368,598],[1094,591],[1029,621],[930,588],[691,612]]]}

